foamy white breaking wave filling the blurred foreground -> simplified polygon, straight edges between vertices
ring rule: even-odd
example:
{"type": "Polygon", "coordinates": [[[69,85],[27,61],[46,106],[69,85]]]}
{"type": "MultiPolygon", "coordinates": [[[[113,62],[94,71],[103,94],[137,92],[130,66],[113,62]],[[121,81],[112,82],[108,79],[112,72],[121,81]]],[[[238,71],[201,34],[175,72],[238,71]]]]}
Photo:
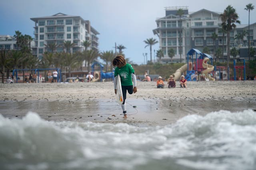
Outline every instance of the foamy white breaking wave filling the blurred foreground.
{"type": "Polygon", "coordinates": [[[254,170],[255,143],[252,110],[188,115],[156,127],[0,115],[3,170],[254,170]]]}

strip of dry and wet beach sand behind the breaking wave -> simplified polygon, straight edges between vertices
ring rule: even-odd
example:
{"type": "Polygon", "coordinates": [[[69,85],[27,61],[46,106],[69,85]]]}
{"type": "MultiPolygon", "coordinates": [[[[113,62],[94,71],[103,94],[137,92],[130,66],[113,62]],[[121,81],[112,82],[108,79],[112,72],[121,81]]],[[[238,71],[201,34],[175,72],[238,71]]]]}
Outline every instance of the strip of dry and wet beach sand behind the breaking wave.
{"type": "Polygon", "coordinates": [[[220,109],[256,109],[256,81],[188,82],[188,88],[172,89],[137,82],[137,89],[136,94],[127,93],[128,119],[123,119],[112,82],[0,84],[0,114],[12,118],[33,111],[49,121],[142,126],[165,125],[188,114],[220,109]]]}

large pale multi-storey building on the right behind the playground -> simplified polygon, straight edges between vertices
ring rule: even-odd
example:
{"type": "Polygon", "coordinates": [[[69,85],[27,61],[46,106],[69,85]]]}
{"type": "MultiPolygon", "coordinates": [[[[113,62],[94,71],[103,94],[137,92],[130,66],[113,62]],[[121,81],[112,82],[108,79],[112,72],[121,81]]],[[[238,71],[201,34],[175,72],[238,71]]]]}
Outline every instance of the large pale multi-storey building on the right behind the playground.
{"type": "MultiPolygon", "coordinates": [[[[156,19],[157,28],[153,29],[154,35],[159,37],[159,49],[162,49],[164,57],[161,59],[163,63],[168,63],[171,58],[168,57],[168,50],[174,49],[175,56],[173,62],[180,62],[180,53],[182,55],[182,62],[186,61],[187,52],[192,49],[198,49],[203,51],[204,47],[210,49],[210,55],[212,55],[215,48],[222,48],[224,43],[224,56],[227,55],[227,37],[224,34],[222,36],[221,23],[219,16],[221,13],[212,12],[206,9],[199,10],[197,12],[188,12],[188,8],[185,7],[166,7],[166,16],[156,19]],[[178,9],[182,9],[184,15],[180,18],[177,16],[178,9]],[[180,37],[179,30],[181,30],[181,46],[180,51],[180,37]],[[216,42],[213,42],[212,33],[216,33],[218,38],[216,42]]],[[[237,28],[230,32],[230,44],[233,47],[239,47],[244,49],[243,54],[248,53],[248,36],[244,37],[244,41],[238,43],[235,39],[235,35],[243,30],[248,31],[248,25],[237,25],[237,28]],[[239,46],[240,45],[240,46],[239,46]],[[247,52],[246,52],[247,51],[247,52]]],[[[250,25],[250,44],[256,46],[256,24],[250,25]]],[[[241,52],[241,51],[240,51],[241,52]]],[[[246,55],[243,55],[244,57],[246,55]]],[[[226,57],[224,57],[226,60],[226,57]]]]}

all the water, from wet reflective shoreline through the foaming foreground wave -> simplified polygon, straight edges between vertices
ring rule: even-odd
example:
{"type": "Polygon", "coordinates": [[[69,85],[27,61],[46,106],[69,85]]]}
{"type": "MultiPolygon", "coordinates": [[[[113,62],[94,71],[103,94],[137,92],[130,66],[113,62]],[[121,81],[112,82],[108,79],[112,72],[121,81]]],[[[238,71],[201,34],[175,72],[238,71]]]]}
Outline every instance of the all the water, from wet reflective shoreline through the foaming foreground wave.
{"type": "Polygon", "coordinates": [[[255,98],[127,102],[1,101],[0,169],[256,169],[255,98]]]}

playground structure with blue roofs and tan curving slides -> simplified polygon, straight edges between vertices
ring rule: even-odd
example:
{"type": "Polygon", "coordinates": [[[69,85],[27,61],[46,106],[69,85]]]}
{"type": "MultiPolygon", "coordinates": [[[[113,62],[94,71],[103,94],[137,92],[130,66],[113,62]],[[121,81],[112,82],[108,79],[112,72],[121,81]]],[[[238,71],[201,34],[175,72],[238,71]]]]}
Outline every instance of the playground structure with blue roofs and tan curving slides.
{"type": "Polygon", "coordinates": [[[202,53],[198,49],[191,49],[187,53],[187,64],[184,64],[182,67],[176,70],[172,76],[174,77],[174,80],[177,81],[180,80],[182,73],[185,73],[186,80],[192,81],[191,75],[196,71],[205,74],[209,80],[215,80],[215,78],[209,74],[214,71],[214,66],[212,65],[212,57],[206,53],[202,53]],[[196,56],[196,59],[194,59],[194,55],[196,56]],[[198,55],[200,56],[198,57],[198,55]],[[191,61],[189,61],[189,56],[191,56],[191,61]],[[208,64],[209,60],[211,60],[211,64],[208,64]]]}

